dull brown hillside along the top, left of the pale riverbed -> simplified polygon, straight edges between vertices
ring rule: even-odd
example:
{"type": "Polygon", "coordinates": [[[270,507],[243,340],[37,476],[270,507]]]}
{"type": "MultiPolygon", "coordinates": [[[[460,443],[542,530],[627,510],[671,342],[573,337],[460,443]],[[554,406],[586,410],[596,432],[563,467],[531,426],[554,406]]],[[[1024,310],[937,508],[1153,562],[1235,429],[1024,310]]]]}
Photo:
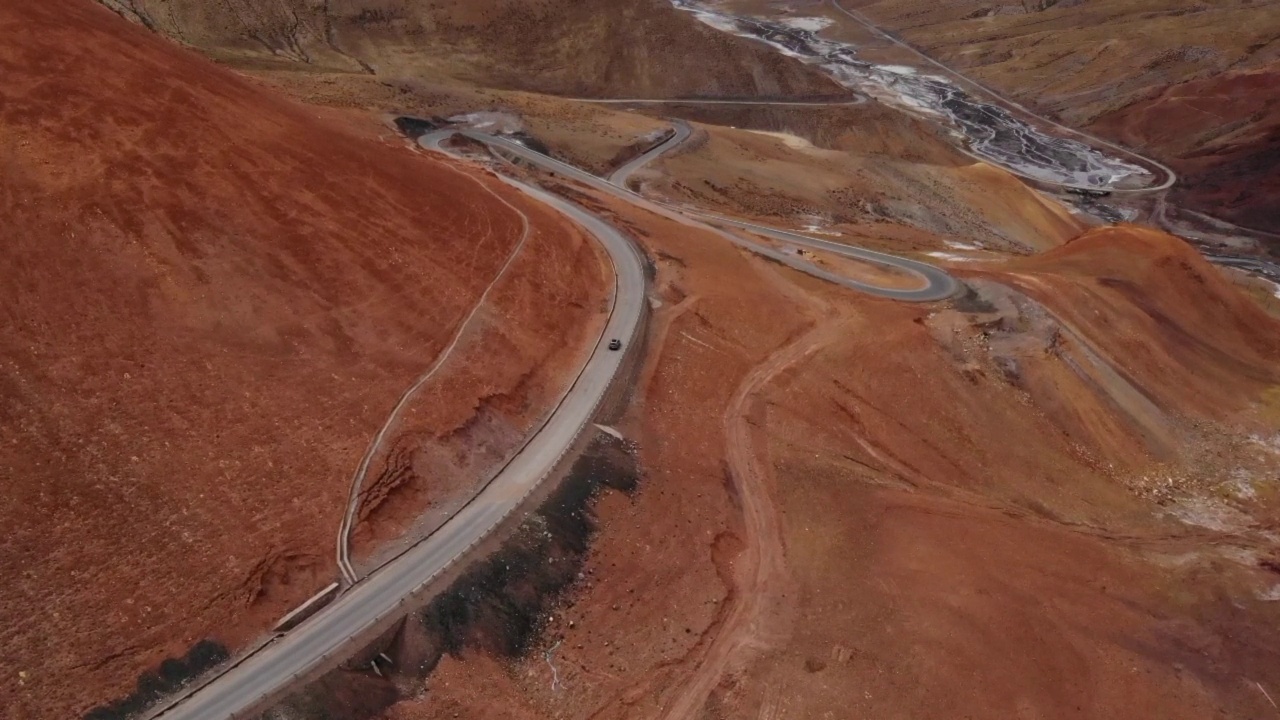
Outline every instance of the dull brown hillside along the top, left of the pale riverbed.
{"type": "Polygon", "coordinates": [[[102,0],[236,65],[585,96],[836,95],[822,73],[667,0],[102,0]],[[690,58],[701,60],[687,72],[690,58]]]}

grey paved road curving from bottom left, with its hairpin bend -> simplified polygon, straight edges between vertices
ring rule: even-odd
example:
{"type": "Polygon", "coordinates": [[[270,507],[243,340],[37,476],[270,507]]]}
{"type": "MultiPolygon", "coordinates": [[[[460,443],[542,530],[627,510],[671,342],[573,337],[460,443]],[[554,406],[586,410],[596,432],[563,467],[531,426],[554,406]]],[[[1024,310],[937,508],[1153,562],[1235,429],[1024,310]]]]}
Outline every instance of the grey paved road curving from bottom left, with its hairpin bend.
{"type": "MultiPolygon", "coordinates": [[[[737,245],[751,249],[754,252],[772,256],[803,272],[863,292],[897,300],[929,301],[948,297],[957,287],[956,282],[943,270],[924,263],[810,238],[732,218],[681,210],[653,202],[627,190],[625,183],[632,172],[677,147],[689,137],[690,128],[684,123],[677,123],[676,132],[671,138],[613,173],[612,182],[541,155],[506,137],[451,129],[429,133],[419,142],[426,149],[444,151],[440,143],[456,133],[484,142],[492,149],[517,155],[544,170],[611,192],[681,223],[714,232],[737,245]],[[920,277],[922,287],[908,291],[887,290],[850,281],[797,260],[788,254],[746,241],[692,219],[689,214],[759,233],[780,242],[892,265],[920,277]]],[[[580,374],[553,409],[547,424],[530,436],[524,447],[476,498],[453,515],[439,530],[356,582],[333,603],[293,630],[278,635],[273,642],[239,660],[221,675],[195,688],[186,697],[175,698],[172,705],[152,717],[165,720],[244,717],[247,714],[260,710],[264,703],[276,698],[301,678],[323,670],[332,661],[340,659],[344,652],[349,651],[348,643],[353,638],[365,635],[376,629],[384,620],[403,612],[404,603],[413,593],[465,556],[471,547],[520,507],[524,500],[556,469],[563,455],[572,447],[579,433],[595,415],[626,355],[625,352],[609,351],[608,340],[622,338],[630,346],[632,345],[630,341],[635,338],[639,329],[646,302],[643,256],[635,245],[616,228],[567,200],[512,178],[502,176],[499,178],[586,228],[600,242],[613,263],[616,279],[609,318],[580,374]]]]}

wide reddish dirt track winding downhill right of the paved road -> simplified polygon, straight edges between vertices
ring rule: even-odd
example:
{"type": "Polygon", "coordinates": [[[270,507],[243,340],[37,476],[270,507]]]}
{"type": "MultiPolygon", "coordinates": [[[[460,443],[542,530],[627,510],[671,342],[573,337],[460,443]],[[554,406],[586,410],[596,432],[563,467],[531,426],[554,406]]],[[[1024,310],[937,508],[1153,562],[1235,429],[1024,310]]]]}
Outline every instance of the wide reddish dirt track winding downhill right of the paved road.
{"type": "Polygon", "coordinates": [[[786,632],[780,612],[782,592],[791,585],[782,525],[771,492],[767,448],[756,442],[759,393],[774,378],[833,341],[838,323],[824,318],[804,334],[769,355],[739,384],[724,409],[726,459],[741,501],[745,550],[735,560],[731,607],[703,657],[691,659],[692,673],[663,703],[658,717],[696,717],[724,674],[742,666],[786,632]]]}

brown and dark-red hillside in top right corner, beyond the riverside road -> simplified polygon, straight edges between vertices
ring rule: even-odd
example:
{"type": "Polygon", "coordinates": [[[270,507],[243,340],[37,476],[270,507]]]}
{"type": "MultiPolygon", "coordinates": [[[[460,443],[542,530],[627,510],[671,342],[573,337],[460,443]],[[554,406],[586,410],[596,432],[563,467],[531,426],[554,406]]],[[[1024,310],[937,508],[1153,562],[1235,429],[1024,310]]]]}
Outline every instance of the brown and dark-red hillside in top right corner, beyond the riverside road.
{"type": "Polygon", "coordinates": [[[1280,8],[1249,0],[841,0],[1062,122],[1148,151],[1193,209],[1280,231],[1280,8]]]}

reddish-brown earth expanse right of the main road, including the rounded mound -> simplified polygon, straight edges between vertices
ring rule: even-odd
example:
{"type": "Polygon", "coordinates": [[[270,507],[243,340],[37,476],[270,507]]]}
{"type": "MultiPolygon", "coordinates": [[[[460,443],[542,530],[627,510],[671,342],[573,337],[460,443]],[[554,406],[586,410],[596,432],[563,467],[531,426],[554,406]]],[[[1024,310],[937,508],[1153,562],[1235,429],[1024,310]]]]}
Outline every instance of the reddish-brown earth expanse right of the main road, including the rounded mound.
{"type": "Polygon", "coordinates": [[[1254,530],[1280,503],[1216,483],[1280,468],[1234,445],[1277,429],[1253,406],[1280,384],[1280,324],[1192,249],[1092,231],[911,306],[613,206],[659,258],[622,425],[645,482],[602,501],[554,612],[562,684],[541,652],[463,655],[387,717],[1274,711],[1276,548],[1254,530]],[[1254,529],[1170,515],[1202,492],[1254,529]]]}

